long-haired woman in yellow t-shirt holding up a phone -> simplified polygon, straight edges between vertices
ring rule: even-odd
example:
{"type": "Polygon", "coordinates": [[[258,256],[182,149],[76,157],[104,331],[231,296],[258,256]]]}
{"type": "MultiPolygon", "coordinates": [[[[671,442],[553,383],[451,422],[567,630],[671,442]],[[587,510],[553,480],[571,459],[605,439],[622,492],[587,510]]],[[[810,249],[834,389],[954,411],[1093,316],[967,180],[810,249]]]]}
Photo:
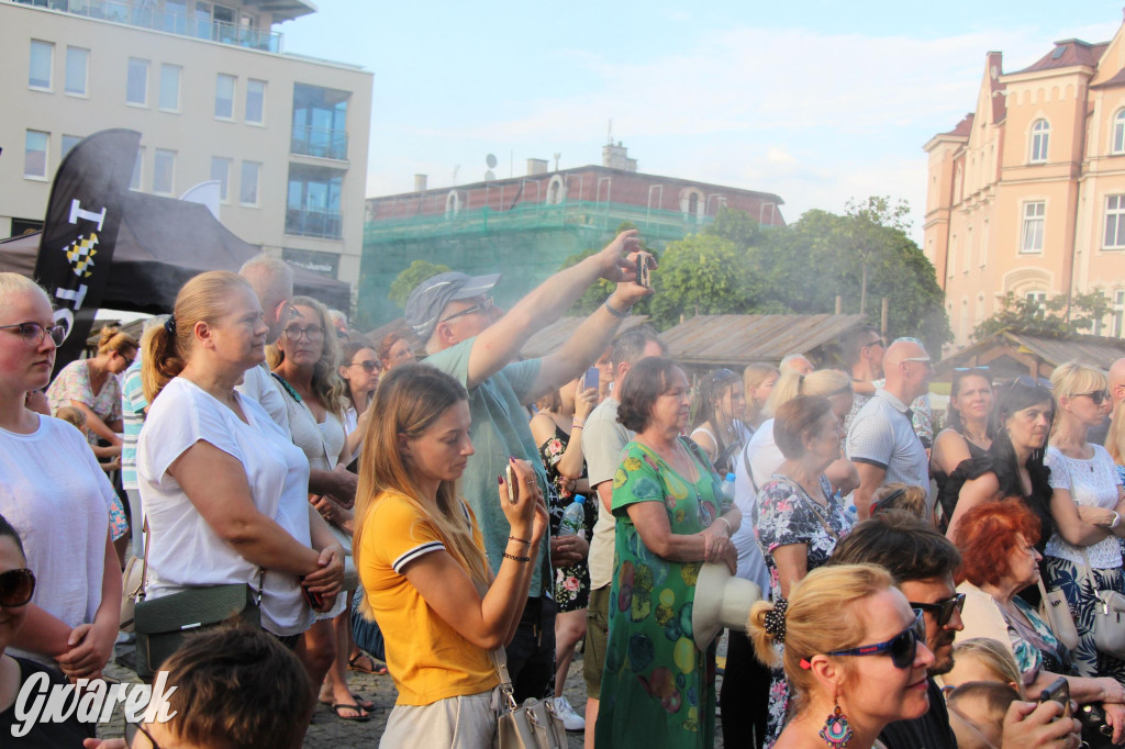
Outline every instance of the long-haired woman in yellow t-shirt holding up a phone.
{"type": "Polygon", "coordinates": [[[371,404],[360,457],[353,550],[364,614],[387,643],[398,700],[379,743],[490,746],[498,678],[489,650],[515,634],[547,527],[529,463],[498,499],[511,524],[493,576],[476,517],[454,494],[472,454],[465,388],[425,364],[396,367],[371,404]]]}

